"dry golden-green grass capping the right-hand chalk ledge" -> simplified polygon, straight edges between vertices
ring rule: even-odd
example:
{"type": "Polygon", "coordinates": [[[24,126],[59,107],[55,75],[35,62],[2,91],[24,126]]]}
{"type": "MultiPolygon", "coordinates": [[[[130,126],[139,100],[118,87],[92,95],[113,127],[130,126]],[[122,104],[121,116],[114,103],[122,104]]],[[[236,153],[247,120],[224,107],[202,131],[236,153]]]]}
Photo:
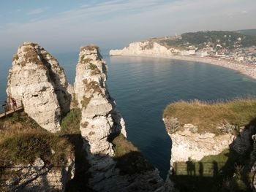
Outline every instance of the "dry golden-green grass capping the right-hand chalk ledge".
{"type": "Polygon", "coordinates": [[[169,104],[164,118],[178,118],[181,126],[192,123],[198,132],[219,134],[217,126],[227,121],[234,126],[248,126],[256,118],[256,99],[235,99],[209,104],[203,101],[178,101],[169,104]]]}

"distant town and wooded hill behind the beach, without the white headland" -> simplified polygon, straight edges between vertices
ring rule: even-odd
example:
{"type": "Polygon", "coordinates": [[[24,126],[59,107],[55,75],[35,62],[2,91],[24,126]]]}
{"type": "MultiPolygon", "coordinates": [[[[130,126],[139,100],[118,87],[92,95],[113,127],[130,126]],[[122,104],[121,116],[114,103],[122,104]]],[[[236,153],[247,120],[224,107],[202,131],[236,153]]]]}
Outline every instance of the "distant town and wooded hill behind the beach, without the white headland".
{"type": "Polygon", "coordinates": [[[194,55],[235,61],[241,64],[256,64],[255,37],[235,32],[214,32],[176,34],[174,37],[152,38],[149,42],[157,42],[167,47],[173,55],[194,55]],[[191,34],[194,37],[197,36],[196,42],[191,34]]]}

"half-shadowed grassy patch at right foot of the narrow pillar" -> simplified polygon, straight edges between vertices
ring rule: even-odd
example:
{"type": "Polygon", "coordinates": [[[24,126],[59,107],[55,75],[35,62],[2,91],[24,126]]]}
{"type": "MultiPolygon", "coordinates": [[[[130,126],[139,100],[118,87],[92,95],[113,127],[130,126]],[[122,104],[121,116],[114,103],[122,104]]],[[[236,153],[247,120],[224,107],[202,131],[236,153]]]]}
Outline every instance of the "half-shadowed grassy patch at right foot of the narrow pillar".
{"type": "Polygon", "coordinates": [[[112,141],[115,151],[116,166],[121,174],[138,174],[154,170],[137,147],[132,145],[123,134],[119,134],[112,141]]]}

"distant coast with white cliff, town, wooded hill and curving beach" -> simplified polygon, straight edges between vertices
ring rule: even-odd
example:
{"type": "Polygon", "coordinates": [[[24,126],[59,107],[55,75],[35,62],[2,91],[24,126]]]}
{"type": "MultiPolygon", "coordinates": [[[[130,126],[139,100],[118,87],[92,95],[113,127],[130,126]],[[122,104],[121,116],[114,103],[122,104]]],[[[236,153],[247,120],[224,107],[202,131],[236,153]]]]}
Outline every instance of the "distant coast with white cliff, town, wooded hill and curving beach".
{"type": "Polygon", "coordinates": [[[256,37],[233,31],[200,31],[132,42],[110,55],[132,55],[213,64],[256,79],[256,37]]]}

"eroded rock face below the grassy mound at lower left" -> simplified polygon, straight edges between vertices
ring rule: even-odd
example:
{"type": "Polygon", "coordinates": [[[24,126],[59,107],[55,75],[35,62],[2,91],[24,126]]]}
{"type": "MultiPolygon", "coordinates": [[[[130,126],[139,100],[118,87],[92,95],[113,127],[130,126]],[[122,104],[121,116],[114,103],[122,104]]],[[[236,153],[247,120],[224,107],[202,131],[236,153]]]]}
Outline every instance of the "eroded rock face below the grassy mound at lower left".
{"type": "Polygon", "coordinates": [[[75,158],[57,167],[47,166],[37,158],[33,164],[19,164],[5,171],[8,178],[1,188],[7,191],[65,191],[75,174],[75,158]]]}

